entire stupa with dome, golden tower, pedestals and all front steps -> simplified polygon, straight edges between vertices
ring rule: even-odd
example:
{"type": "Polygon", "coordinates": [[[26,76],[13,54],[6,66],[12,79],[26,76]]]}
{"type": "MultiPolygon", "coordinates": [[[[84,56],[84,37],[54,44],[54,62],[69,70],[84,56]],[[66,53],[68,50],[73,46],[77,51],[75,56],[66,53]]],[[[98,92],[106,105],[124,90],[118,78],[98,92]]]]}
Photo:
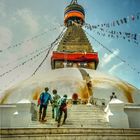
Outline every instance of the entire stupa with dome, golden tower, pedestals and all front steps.
{"type": "MultiPolygon", "coordinates": [[[[84,30],[84,8],[72,0],[65,8],[67,30],[51,52],[51,70],[36,73],[0,94],[0,135],[3,140],[139,140],[140,90],[98,71],[98,52],[84,30]],[[37,100],[44,88],[68,95],[66,124],[57,128],[51,105],[47,122],[37,119],[37,100]],[[112,92],[117,99],[110,100],[112,92]],[[72,102],[77,95],[78,104],[72,102]],[[115,129],[114,129],[115,128],[115,129]]],[[[48,57],[49,57],[48,56],[48,57]]]]}

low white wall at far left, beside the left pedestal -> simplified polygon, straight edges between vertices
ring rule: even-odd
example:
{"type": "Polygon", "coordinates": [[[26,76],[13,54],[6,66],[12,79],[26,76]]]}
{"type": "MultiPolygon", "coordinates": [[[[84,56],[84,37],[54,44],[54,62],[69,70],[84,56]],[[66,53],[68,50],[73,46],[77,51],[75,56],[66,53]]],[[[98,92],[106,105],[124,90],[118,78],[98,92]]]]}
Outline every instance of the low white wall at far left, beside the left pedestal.
{"type": "Polygon", "coordinates": [[[16,105],[0,105],[0,128],[12,127],[13,113],[16,111],[16,105]]]}

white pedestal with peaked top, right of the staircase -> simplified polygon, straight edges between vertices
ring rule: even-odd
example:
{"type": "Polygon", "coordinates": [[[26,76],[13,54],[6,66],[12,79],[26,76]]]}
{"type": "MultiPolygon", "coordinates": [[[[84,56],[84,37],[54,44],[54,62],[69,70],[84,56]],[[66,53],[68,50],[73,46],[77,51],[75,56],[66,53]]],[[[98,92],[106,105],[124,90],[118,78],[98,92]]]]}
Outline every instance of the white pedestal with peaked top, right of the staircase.
{"type": "Polygon", "coordinates": [[[124,103],[118,99],[112,99],[107,108],[107,120],[113,128],[129,128],[128,116],[124,112],[124,103]]]}

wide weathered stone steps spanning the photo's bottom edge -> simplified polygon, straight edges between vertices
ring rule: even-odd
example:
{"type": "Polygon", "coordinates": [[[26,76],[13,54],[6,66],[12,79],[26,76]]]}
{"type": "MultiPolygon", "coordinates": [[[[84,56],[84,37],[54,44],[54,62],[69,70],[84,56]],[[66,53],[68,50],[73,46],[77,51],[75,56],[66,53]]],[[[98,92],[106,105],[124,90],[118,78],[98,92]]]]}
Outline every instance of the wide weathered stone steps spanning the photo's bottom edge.
{"type": "Polygon", "coordinates": [[[139,140],[140,129],[19,128],[1,129],[2,140],[139,140]]]}

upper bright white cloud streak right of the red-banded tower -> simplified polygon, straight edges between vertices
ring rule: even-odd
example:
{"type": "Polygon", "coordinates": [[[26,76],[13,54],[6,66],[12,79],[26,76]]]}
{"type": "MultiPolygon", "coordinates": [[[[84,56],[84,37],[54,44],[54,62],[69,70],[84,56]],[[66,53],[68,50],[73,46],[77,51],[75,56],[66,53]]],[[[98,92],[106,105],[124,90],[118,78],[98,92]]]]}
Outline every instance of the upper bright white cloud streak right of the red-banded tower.
{"type": "Polygon", "coordinates": [[[105,53],[101,61],[101,67],[104,67],[106,64],[110,63],[110,61],[114,57],[116,57],[116,55],[118,55],[119,53],[120,53],[119,49],[114,50],[112,54],[105,53]]]}

